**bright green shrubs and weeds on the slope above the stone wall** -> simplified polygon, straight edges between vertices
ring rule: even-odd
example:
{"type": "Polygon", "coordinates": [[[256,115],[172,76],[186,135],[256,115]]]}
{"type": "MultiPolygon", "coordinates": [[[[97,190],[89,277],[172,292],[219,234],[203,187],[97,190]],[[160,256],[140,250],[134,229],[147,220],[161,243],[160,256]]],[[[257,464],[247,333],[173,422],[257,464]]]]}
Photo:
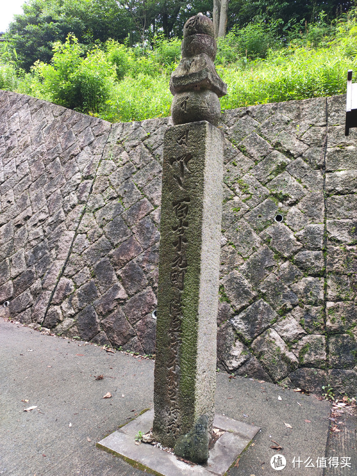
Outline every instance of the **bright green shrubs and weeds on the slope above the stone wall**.
{"type": "MultiPolygon", "coordinates": [[[[85,44],[69,33],[53,44],[52,59],[29,72],[8,42],[0,52],[0,88],[110,121],[169,115],[181,40],[157,32],[144,45],[120,41],[85,44]]],[[[343,93],[347,69],[357,70],[356,53],[355,9],[333,20],[320,13],[313,23],[271,17],[231,27],[218,40],[216,67],[228,84],[222,109],[343,93]]]]}

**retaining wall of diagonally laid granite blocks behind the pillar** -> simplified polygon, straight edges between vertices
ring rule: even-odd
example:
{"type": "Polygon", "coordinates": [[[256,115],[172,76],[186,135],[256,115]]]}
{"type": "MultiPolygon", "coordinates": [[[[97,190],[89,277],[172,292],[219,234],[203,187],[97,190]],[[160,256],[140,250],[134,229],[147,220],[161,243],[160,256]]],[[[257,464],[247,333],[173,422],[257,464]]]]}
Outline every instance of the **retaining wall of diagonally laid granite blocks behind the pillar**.
{"type": "MultiPolygon", "coordinates": [[[[357,134],[344,136],[344,108],[335,96],[222,114],[217,337],[232,373],[357,390],[357,134]]],[[[154,352],[168,124],[0,91],[2,315],[154,352]]]]}

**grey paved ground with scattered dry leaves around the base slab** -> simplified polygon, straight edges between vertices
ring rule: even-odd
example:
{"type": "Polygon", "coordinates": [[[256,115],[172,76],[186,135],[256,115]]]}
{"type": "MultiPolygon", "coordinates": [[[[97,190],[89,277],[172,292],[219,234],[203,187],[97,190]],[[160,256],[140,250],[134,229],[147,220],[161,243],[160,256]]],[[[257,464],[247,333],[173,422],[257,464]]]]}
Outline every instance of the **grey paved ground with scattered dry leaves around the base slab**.
{"type": "MultiPolygon", "coordinates": [[[[42,335],[0,318],[0,475],[144,474],[95,443],[152,407],[153,381],[150,360],[42,335]],[[104,379],[95,380],[100,374],[104,379]],[[103,398],[107,392],[112,398],[103,398]]],[[[283,476],[357,474],[355,416],[345,412],[343,431],[329,435],[327,402],[247,378],[229,379],[226,373],[217,374],[216,396],[217,413],[262,428],[229,475],[271,476],[275,453],[287,459],[286,468],[276,473],[283,476]],[[273,440],[284,449],[271,449],[273,440]],[[328,456],[351,457],[352,469],[292,465],[294,457],[316,464],[328,456]]]]}

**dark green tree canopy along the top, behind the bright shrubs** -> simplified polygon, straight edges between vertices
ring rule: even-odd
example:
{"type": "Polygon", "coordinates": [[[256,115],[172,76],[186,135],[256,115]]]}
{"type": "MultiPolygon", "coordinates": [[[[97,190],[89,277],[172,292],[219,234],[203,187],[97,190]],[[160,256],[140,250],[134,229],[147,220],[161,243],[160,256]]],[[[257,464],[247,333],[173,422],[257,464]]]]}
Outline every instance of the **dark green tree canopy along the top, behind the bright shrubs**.
{"type": "MultiPolygon", "coordinates": [[[[217,3],[217,2],[215,2],[217,3]]],[[[222,4],[223,0],[219,0],[222,4]]],[[[225,30],[253,21],[290,19],[316,21],[324,11],[329,18],[348,11],[353,0],[225,0],[225,30]]],[[[73,33],[84,45],[109,38],[128,45],[146,46],[155,35],[181,37],[186,20],[202,12],[213,18],[213,0],[29,0],[15,15],[5,37],[16,49],[18,64],[29,70],[36,60],[49,62],[53,44],[73,33]]]]}

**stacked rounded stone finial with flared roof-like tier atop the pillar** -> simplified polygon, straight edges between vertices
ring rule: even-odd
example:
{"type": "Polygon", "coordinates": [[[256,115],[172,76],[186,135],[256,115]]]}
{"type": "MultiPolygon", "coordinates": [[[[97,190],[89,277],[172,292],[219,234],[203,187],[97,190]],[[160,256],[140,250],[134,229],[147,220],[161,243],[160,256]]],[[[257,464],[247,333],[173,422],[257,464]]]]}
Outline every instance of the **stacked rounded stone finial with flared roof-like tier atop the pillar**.
{"type": "Polygon", "coordinates": [[[221,112],[218,98],[227,93],[227,85],[213,63],[217,44],[207,16],[199,13],[187,20],[181,52],[182,60],[170,79],[172,121],[176,125],[207,120],[217,126],[221,112]]]}

